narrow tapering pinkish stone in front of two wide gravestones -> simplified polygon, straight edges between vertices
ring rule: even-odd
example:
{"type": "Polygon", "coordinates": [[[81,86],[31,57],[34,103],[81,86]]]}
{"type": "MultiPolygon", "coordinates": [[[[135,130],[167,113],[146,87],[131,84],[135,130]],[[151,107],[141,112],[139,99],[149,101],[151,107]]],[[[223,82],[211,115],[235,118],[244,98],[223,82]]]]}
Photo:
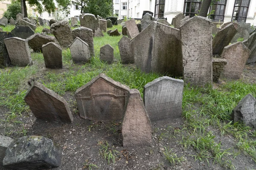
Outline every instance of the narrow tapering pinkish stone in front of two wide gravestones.
{"type": "Polygon", "coordinates": [[[131,89],[122,121],[123,147],[149,146],[151,144],[151,132],[151,122],[140,92],[137,89],[131,89]]]}

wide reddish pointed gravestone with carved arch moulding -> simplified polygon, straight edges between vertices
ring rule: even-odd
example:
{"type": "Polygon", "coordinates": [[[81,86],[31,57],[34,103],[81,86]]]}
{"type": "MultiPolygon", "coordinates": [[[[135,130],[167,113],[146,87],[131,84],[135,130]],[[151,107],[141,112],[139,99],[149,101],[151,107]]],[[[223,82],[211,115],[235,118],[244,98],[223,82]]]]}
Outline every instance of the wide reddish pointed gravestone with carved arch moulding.
{"type": "Polygon", "coordinates": [[[128,91],[128,86],[99,74],[76,91],[81,118],[94,121],[122,119],[128,91]]]}

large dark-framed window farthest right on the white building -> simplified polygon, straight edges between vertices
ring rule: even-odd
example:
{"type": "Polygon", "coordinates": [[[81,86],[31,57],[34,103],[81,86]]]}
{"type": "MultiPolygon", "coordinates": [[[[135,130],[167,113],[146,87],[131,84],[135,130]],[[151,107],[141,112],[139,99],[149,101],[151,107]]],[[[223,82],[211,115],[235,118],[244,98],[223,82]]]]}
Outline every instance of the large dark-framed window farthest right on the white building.
{"type": "Polygon", "coordinates": [[[241,22],[244,20],[246,22],[246,17],[248,13],[248,7],[250,5],[250,0],[236,0],[233,10],[232,21],[241,22]]]}

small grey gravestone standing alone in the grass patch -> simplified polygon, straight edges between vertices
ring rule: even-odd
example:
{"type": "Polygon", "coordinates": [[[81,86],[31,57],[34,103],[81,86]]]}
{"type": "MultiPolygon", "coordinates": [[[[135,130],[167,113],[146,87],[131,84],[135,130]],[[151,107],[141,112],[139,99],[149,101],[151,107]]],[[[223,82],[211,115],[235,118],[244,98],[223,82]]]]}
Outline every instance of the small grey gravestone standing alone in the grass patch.
{"type": "Polygon", "coordinates": [[[114,60],[114,48],[111,45],[106,44],[100,48],[99,59],[108,64],[113,63],[114,60]]]}

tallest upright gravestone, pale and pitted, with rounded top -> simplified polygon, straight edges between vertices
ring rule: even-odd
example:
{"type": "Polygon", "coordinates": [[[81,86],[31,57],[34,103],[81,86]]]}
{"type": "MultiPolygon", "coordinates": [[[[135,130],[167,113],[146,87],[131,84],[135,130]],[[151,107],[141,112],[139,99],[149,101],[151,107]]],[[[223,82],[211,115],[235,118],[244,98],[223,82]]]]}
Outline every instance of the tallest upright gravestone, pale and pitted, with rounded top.
{"type": "Polygon", "coordinates": [[[183,77],[195,86],[212,84],[211,20],[195,16],[180,27],[183,77]]]}

